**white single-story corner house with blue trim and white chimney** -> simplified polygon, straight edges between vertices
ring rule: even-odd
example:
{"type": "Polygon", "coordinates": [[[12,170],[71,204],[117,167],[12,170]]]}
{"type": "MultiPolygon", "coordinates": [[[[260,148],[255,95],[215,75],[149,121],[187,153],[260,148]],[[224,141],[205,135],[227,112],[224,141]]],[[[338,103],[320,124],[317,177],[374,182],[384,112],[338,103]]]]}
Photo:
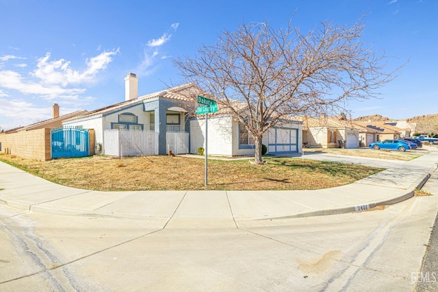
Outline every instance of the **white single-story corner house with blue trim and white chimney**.
{"type": "MultiPolygon", "coordinates": [[[[125,101],[81,114],[63,125],[94,129],[96,144],[105,150],[107,130],[153,131],[159,135],[159,153],[168,153],[168,132],[187,132],[188,152],[196,154],[205,148],[205,116],[194,114],[198,95],[204,95],[194,84],[184,84],[138,97],[138,78],[125,77],[125,101]]],[[[220,106],[219,106],[220,108],[220,106]]],[[[220,156],[253,155],[253,140],[233,115],[223,110],[209,114],[208,154],[220,156]]],[[[263,137],[270,154],[300,153],[302,126],[300,121],[285,119],[263,137]]]]}

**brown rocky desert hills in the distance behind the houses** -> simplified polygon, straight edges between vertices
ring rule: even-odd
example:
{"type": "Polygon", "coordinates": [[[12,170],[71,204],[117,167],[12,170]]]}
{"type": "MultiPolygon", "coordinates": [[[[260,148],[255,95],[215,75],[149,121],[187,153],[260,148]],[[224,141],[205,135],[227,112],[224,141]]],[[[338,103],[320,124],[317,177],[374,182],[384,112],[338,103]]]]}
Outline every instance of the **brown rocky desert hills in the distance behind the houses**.
{"type": "Polygon", "coordinates": [[[424,116],[418,116],[403,120],[389,119],[388,117],[383,117],[380,114],[372,114],[370,116],[353,119],[353,121],[408,121],[409,123],[417,123],[417,127],[415,127],[415,132],[417,133],[438,133],[438,114],[426,114],[424,116]]]}

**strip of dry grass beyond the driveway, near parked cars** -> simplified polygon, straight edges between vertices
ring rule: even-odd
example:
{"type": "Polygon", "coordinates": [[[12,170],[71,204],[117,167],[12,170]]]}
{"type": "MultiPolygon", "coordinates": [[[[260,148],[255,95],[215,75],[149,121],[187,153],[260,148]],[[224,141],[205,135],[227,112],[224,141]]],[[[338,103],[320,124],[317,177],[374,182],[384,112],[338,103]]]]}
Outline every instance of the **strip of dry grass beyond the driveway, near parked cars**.
{"type": "MultiPolygon", "coordinates": [[[[390,160],[403,160],[409,161],[414,158],[420,157],[412,151],[400,152],[400,151],[387,151],[387,150],[374,150],[368,148],[359,149],[341,149],[341,148],[305,148],[305,152],[322,152],[330,154],[348,155],[348,156],[359,156],[359,157],[369,157],[369,158],[380,158],[380,159],[390,159],[390,160]]],[[[426,150],[417,150],[424,151],[426,150]]]]}

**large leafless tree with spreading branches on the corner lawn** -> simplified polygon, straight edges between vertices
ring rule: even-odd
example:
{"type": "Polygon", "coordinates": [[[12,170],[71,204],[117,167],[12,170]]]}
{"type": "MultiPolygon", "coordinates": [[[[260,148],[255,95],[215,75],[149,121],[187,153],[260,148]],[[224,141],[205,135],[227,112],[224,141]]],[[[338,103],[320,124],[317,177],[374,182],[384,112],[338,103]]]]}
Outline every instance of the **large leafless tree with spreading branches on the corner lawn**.
{"type": "Polygon", "coordinates": [[[269,23],[242,24],[224,31],[198,56],[173,60],[181,76],[228,108],[253,136],[261,162],[263,134],[285,116],[346,112],[349,99],[375,97],[394,78],[385,73],[385,54],[361,42],[363,25],[322,23],[307,34],[269,23]]]}

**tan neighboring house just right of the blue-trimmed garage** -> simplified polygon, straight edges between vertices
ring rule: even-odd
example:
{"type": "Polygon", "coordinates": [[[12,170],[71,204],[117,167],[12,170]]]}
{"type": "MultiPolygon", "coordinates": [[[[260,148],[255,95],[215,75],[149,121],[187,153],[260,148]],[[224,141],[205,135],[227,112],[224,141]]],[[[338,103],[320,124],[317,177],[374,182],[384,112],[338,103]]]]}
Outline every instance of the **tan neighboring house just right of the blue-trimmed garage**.
{"type": "Polygon", "coordinates": [[[311,148],[359,147],[359,130],[356,125],[339,117],[300,117],[302,142],[311,148]],[[341,141],[341,143],[339,143],[341,141]]]}

